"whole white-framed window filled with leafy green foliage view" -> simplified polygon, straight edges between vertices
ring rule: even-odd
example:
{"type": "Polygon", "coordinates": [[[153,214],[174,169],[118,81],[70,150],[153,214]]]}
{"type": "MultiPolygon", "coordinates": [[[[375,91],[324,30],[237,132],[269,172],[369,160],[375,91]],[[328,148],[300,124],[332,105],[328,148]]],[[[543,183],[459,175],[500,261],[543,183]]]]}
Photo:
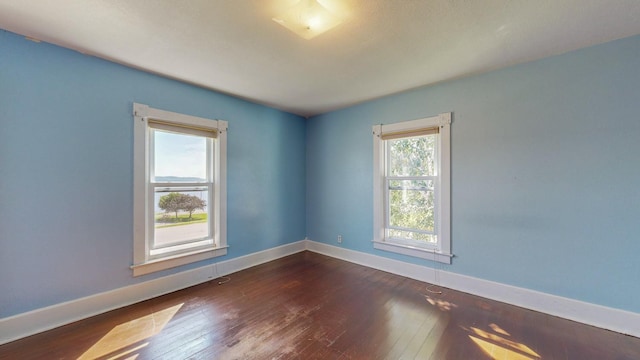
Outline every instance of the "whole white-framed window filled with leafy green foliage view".
{"type": "Polygon", "coordinates": [[[451,263],[451,113],[373,127],[376,249],[451,263]]]}

